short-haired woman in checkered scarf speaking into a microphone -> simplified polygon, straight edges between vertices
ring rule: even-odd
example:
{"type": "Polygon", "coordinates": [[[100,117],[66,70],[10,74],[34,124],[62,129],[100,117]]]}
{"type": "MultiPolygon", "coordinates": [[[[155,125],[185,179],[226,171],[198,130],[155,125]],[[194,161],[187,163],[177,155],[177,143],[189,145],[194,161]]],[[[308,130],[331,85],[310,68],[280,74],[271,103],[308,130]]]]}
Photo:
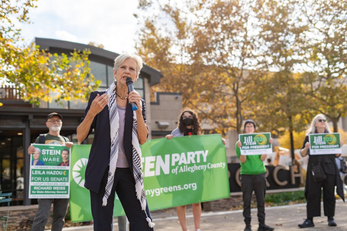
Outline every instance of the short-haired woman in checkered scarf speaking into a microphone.
{"type": "Polygon", "coordinates": [[[77,127],[79,142],[87,139],[94,129],[84,184],[90,190],[94,230],[112,230],[115,192],[129,220],[130,231],[153,230],[139,146],[148,136],[146,107],[138,92],[129,92],[127,86],[127,78],[136,82],[142,64],[138,55],[119,55],[113,67],[115,81],[107,90],[91,93],[77,127]],[[137,110],[133,110],[136,109],[133,103],[137,110]]]}

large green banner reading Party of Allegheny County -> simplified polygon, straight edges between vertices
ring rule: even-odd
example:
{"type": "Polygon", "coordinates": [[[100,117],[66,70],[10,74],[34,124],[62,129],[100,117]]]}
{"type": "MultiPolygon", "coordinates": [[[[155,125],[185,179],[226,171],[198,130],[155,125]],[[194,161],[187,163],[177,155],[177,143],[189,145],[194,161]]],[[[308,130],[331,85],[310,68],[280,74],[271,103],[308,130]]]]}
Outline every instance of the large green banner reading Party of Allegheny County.
{"type": "MultiPolygon", "coordinates": [[[[83,187],[90,145],[73,145],[71,221],[92,220],[90,194],[83,187]]],[[[219,134],[148,140],[141,145],[144,187],[150,210],[230,196],[225,146],[219,134]]],[[[118,197],[114,215],[124,215],[118,197]]]]}

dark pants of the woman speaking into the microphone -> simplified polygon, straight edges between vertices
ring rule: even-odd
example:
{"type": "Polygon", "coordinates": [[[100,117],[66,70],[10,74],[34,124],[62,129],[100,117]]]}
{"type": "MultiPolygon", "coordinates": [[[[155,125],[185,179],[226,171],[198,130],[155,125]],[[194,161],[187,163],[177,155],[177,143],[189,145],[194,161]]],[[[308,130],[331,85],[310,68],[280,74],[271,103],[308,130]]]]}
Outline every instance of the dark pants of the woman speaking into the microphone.
{"type": "MultiPolygon", "coordinates": [[[[107,199],[107,205],[102,206],[102,197],[107,184],[108,170],[106,169],[101,181],[99,193],[90,191],[92,215],[94,219],[94,231],[112,231],[113,229],[113,205],[115,192],[117,192],[120,203],[129,220],[130,231],[153,231],[146,221],[145,211],[142,210],[140,201],[137,199],[135,191],[135,180],[133,172],[129,168],[116,168],[115,180],[113,182],[111,194],[107,199]]],[[[152,220],[151,214],[146,205],[146,213],[152,220]]]]}

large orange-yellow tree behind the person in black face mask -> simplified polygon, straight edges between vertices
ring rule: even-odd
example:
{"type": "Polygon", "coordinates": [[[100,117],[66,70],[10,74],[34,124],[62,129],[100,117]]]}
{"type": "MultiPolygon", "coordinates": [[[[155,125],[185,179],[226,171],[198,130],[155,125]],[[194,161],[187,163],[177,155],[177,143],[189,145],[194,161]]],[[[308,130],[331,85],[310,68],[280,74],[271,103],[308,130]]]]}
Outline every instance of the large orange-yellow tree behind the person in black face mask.
{"type": "MultiPolygon", "coordinates": [[[[261,71],[258,35],[249,1],[170,2],[156,5],[158,15],[144,17],[137,48],[147,64],[164,78],[153,90],[180,91],[186,107],[194,108],[219,131],[241,131],[245,117],[254,116],[247,104],[261,71]],[[160,25],[164,17],[173,30],[160,25]]],[[[140,9],[153,12],[153,3],[140,9]]],[[[137,16],[138,17],[138,16],[137,16]]],[[[143,17],[141,17],[143,18],[143,17]]]]}

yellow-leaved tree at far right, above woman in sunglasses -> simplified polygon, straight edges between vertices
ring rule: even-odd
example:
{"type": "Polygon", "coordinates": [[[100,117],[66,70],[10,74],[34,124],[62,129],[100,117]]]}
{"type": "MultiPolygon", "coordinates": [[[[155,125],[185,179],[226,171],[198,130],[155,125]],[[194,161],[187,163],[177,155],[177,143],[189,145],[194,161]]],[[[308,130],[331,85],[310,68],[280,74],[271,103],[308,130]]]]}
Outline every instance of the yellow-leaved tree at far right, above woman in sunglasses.
{"type": "Polygon", "coordinates": [[[344,0],[298,1],[307,30],[305,63],[306,94],[313,109],[324,114],[338,131],[347,116],[347,4],[344,0]]]}

